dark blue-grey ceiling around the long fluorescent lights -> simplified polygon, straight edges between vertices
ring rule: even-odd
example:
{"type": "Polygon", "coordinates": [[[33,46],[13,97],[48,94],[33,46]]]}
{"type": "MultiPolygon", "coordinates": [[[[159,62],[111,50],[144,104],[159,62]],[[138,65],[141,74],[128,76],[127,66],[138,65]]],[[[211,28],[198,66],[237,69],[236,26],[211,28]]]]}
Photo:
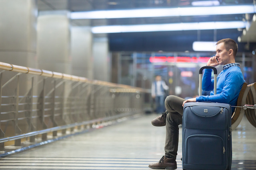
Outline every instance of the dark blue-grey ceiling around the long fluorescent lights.
{"type": "MultiPolygon", "coordinates": [[[[127,10],[145,8],[192,7],[192,3],[204,0],[38,0],[39,11],[69,10],[83,12],[95,10],[127,10]]],[[[215,1],[216,2],[216,1],[215,1]]],[[[218,0],[220,6],[255,5],[256,0],[218,0]]],[[[138,25],[162,23],[189,23],[208,21],[248,21],[252,23],[243,35],[243,29],[218,29],[201,31],[162,31],[140,33],[108,33],[110,51],[193,51],[194,41],[218,41],[232,38],[238,42],[239,50],[256,49],[256,22],[254,14],[229,14],[208,16],[173,16],[149,18],[112,18],[71,20],[72,26],[138,25]]],[[[102,35],[94,35],[102,36],[102,35]]]]}

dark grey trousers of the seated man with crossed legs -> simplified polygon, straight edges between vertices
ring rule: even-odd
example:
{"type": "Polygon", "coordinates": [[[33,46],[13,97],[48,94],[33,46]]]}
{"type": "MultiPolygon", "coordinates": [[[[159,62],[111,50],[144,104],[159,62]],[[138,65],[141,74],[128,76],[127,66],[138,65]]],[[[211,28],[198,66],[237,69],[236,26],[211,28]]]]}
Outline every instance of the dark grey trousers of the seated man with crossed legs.
{"type": "Polygon", "coordinates": [[[167,96],[164,105],[168,114],[166,115],[166,139],[165,139],[165,156],[175,158],[178,151],[179,127],[182,124],[183,107],[185,99],[177,96],[167,96]]]}

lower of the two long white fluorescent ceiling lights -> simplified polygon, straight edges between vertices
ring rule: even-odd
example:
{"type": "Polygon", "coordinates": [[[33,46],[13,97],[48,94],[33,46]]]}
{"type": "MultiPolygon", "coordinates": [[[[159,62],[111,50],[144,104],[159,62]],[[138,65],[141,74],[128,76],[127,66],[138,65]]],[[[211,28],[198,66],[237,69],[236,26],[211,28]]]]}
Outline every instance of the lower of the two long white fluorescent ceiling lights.
{"type": "Polygon", "coordinates": [[[194,23],[166,23],[145,25],[107,25],[92,27],[92,33],[127,33],[127,32],[152,32],[152,31],[182,31],[206,29],[234,29],[245,28],[244,21],[221,22],[194,22],[194,23]]]}

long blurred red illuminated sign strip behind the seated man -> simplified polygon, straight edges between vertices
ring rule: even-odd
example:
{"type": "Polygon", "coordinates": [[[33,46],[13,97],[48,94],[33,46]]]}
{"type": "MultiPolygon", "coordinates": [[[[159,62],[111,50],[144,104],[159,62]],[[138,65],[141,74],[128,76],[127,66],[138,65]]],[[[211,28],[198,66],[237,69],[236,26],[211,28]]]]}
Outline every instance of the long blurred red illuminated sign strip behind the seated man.
{"type": "Polygon", "coordinates": [[[150,57],[150,63],[207,63],[210,57],[150,57]]]}

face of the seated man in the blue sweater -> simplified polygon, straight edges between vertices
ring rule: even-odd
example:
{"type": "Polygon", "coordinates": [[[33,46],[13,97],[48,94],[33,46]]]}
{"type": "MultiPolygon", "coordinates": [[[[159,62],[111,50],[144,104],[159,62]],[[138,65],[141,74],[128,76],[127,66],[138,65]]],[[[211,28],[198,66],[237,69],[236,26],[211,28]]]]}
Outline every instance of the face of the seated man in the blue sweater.
{"type": "Polygon", "coordinates": [[[219,43],[216,46],[216,55],[215,57],[218,59],[220,65],[225,65],[230,63],[230,54],[229,51],[226,50],[224,43],[219,43]]]}

